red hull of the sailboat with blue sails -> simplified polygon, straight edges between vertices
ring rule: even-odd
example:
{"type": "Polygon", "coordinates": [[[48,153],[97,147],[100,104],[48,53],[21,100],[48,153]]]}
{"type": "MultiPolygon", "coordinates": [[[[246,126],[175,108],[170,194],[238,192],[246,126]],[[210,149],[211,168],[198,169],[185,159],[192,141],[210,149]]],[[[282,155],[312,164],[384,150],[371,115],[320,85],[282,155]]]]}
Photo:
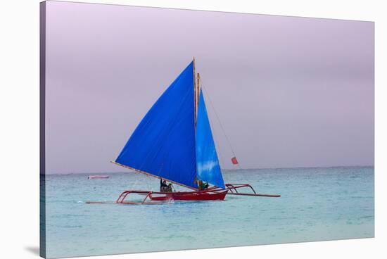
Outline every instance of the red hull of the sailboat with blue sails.
{"type": "Polygon", "coordinates": [[[149,196],[152,201],[223,201],[227,191],[216,193],[192,192],[191,194],[172,193],[165,196],[149,196]]]}

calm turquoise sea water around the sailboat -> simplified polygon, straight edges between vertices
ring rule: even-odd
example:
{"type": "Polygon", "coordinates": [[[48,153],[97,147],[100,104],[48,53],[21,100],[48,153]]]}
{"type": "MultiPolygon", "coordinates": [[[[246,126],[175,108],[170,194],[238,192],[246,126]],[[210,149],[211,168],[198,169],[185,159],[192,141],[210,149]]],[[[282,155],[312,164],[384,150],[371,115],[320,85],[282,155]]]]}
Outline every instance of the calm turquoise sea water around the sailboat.
{"type": "Polygon", "coordinates": [[[225,182],[250,183],[281,198],[227,196],[156,206],[84,203],[115,201],[127,189],[158,189],[153,177],[103,175],[110,179],[46,176],[48,258],[374,236],[373,167],[224,171],[225,182]]]}

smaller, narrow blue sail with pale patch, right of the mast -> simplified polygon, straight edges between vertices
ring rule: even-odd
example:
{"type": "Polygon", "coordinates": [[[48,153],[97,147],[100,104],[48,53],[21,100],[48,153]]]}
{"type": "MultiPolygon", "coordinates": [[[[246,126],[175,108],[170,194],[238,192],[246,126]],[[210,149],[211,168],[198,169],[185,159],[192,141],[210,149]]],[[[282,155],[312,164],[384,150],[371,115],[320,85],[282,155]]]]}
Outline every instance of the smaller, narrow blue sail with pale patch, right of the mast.
{"type": "Polygon", "coordinates": [[[196,120],[196,167],[198,179],[225,188],[202,91],[196,120]]]}

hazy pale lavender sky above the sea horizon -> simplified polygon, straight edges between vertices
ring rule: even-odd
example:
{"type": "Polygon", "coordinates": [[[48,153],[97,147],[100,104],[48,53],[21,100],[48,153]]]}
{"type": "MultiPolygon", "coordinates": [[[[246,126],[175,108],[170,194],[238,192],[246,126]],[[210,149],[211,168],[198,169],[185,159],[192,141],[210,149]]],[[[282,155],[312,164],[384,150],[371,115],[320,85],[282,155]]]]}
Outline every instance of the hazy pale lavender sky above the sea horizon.
{"type": "Polygon", "coordinates": [[[125,172],[194,56],[222,168],[374,165],[374,23],[48,1],[46,173],[125,172]]]}

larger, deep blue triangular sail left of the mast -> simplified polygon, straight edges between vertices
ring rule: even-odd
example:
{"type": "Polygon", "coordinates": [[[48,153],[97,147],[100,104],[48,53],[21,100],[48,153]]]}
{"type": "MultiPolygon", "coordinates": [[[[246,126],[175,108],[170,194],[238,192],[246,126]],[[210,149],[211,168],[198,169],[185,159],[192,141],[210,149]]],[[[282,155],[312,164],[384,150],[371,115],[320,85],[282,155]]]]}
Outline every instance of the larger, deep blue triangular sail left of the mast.
{"type": "Polygon", "coordinates": [[[153,104],[116,163],[196,189],[194,64],[153,104]]]}

